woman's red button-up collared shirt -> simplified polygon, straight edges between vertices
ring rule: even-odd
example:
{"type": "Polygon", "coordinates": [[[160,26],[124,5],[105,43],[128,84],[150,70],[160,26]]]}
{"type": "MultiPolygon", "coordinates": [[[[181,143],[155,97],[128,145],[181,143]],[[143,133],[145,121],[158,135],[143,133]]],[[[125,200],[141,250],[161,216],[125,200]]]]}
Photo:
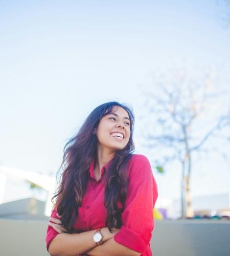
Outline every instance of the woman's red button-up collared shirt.
{"type": "MultiPolygon", "coordinates": [[[[79,215],[74,225],[76,229],[88,231],[105,227],[107,214],[104,206],[103,175],[110,161],[102,167],[101,178],[98,181],[94,176],[94,161],[91,163],[87,189],[82,199],[82,206],[78,208],[79,215]]],[[[142,256],[149,256],[152,255],[150,240],[154,228],[153,207],[158,193],[148,158],[143,155],[132,155],[128,163],[128,179],[129,186],[122,213],[122,226],[114,236],[114,240],[141,252],[142,256]]],[[[121,202],[118,202],[118,206],[122,206],[121,202]]],[[[51,216],[57,218],[56,213],[57,211],[53,210],[51,216]]],[[[45,239],[47,249],[57,234],[57,231],[48,226],[45,239]]]]}

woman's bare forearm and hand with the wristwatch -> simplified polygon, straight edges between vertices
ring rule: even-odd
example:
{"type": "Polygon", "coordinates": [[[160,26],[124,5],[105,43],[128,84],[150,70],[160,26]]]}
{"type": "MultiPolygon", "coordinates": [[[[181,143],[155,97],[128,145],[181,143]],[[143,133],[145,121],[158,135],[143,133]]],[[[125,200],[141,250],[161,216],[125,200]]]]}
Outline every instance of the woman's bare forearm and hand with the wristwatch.
{"type": "MultiPolygon", "coordinates": [[[[49,224],[56,227],[55,223],[49,224]]],[[[96,230],[85,231],[81,233],[59,233],[50,243],[49,253],[52,256],[73,256],[82,254],[85,251],[93,249],[97,245],[93,240],[93,236],[96,230]]],[[[114,229],[113,233],[110,233],[107,227],[101,229],[103,234],[103,242],[106,242],[112,238],[119,229],[114,229]]]]}

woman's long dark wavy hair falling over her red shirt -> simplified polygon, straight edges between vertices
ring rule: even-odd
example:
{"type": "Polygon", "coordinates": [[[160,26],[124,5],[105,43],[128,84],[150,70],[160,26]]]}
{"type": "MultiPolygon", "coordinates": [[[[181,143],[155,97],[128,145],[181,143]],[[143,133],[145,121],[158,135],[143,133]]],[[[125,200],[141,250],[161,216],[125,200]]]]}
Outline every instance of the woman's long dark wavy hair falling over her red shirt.
{"type": "Polygon", "coordinates": [[[111,231],[112,227],[120,228],[122,225],[121,214],[124,210],[128,178],[126,168],[132,153],[134,114],[127,104],[116,101],[99,105],[86,118],[77,135],[73,136],[64,146],[64,154],[59,170],[63,170],[60,176],[60,185],[57,189],[55,208],[61,215],[61,222],[67,232],[74,233],[74,223],[78,217],[78,207],[81,206],[85,194],[88,169],[91,161],[98,161],[97,136],[94,134],[103,116],[112,111],[113,106],[120,106],[127,111],[130,118],[130,138],[123,150],[119,150],[113,156],[104,176],[105,197],[104,205],[107,209],[106,226],[111,231]],[[121,201],[122,208],[118,207],[121,201]]]}

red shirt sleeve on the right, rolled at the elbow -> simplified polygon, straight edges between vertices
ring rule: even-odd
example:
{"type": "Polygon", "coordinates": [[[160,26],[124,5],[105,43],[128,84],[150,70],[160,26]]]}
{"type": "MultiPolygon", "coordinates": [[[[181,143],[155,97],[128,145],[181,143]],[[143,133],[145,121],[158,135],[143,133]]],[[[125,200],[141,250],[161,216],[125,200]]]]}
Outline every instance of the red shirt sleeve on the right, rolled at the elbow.
{"type": "Polygon", "coordinates": [[[130,167],[122,226],[114,241],[144,252],[152,237],[153,208],[157,196],[157,185],[148,158],[136,155],[130,167]]]}

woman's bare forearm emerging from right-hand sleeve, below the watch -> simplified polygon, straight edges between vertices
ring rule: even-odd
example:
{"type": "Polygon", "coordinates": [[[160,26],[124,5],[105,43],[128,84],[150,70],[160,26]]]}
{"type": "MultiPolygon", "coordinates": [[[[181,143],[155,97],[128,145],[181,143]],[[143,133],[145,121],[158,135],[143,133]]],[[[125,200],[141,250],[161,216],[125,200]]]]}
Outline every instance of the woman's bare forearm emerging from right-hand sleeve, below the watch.
{"type": "Polygon", "coordinates": [[[113,238],[110,238],[102,245],[86,251],[85,254],[89,256],[139,256],[141,255],[141,252],[129,249],[114,241],[113,238]]]}

